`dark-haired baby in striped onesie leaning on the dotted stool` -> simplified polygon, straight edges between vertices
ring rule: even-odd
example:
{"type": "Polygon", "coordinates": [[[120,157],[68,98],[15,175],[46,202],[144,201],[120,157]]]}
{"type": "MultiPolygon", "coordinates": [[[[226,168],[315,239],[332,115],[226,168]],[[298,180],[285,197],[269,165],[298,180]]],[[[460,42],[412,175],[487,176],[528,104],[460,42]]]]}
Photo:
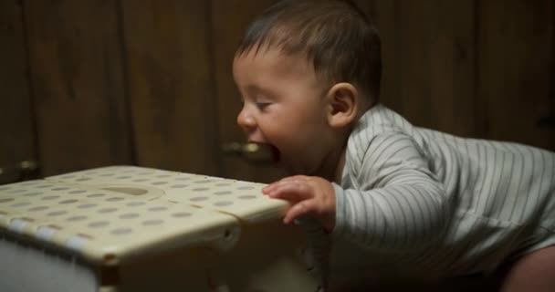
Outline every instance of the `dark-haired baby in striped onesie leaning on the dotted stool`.
{"type": "Polygon", "coordinates": [[[555,291],[555,153],[415,127],[378,102],[381,70],[376,29],[342,1],[273,5],[234,59],[237,123],[294,175],[263,192],[323,230],[324,288],[508,266],[503,291],[555,291]]]}

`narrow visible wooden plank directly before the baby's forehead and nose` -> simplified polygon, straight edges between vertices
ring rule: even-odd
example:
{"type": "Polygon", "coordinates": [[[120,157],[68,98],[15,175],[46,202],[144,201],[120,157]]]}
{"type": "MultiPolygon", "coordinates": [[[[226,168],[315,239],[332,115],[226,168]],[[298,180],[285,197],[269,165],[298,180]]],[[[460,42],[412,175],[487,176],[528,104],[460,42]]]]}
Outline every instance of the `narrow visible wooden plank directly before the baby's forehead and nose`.
{"type": "MultiPolygon", "coordinates": [[[[215,89],[218,100],[219,132],[222,143],[245,141],[245,135],[236,125],[241,109],[241,98],[232,76],[233,57],[246,27],[272,0],[213,1],[213,43],[215,45],[215,89]]],[[[283,176],[269,166],[251,165],[237,158],[220,154],[222,175],[255,182],[271,182],[283,176]]]]}

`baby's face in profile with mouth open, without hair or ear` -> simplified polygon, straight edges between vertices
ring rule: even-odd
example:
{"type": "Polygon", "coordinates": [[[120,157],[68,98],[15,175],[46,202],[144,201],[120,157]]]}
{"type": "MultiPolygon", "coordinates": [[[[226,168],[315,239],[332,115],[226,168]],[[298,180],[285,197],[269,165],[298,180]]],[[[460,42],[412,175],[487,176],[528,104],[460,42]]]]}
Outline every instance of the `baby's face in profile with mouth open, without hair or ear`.
{"type": "Polygon", "coordinates": [[[291,174],[321,172],[332,144],[329,106],[309,61],[263,48],[236,57],[233,75],[244,102],[237,123],[248,141],[275,147],[291,174]]]}

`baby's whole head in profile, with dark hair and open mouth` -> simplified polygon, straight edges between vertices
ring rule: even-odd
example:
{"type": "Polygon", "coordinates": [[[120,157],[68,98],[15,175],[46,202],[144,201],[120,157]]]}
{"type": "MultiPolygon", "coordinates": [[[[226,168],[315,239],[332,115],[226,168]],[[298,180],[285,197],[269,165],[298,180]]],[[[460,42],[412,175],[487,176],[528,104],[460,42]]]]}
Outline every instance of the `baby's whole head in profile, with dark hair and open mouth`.
{"type": "Polygon", "coordinates": [[[377,101],[381,68],[377,31],[354,5],[279,2],[237,49],[234,78],[245,102],[237,122],[249,141],[275,146],[290,172],[325,176],[377,101]]]}

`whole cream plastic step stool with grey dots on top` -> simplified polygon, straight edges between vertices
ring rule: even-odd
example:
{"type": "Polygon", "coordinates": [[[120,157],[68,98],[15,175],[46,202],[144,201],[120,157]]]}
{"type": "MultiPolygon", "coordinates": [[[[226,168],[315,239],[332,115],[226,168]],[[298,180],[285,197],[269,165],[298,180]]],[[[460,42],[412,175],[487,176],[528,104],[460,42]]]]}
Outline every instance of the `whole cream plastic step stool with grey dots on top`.
{"type": "Polygon", "coordinates": [[[263,186],[133,166],[0,186],[0,291],[315,291],[263,186]]]}

